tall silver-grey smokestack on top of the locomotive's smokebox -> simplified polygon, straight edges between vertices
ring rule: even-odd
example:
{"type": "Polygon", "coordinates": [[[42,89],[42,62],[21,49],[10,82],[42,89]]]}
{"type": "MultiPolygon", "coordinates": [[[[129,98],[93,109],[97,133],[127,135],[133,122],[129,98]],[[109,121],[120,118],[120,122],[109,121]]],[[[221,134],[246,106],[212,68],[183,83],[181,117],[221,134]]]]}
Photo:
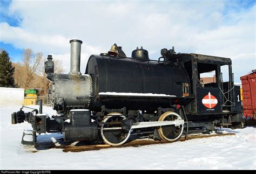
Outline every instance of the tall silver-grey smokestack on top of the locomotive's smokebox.
{"type": "Polygon", "coordinates": [[[80,59],[81,59],[81,44],[82,40],[70,40],[71,57],[70,57],[70,72],[69,74],[81,75],[80,73],[80,59]]]}

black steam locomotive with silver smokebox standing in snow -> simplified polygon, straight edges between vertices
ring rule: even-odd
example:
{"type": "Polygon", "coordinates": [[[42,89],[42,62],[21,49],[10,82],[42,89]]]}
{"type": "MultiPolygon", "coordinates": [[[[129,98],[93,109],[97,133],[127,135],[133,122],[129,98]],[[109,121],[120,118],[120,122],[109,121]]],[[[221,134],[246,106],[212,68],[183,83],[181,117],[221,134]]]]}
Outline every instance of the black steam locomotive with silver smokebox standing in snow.
{"type": "Polygon", "coordinates": [[[39,109],[13,113],[12,123],[28,121],[23,144],[36,144],[36,133],[64,133],[64,141],[104,141],[120,145],[131,135],[176,141],[190,131],[215,127],[239,127],[242,121],[240,87],[234,86],[229,58],[161,50],[158,60],[149,59],[143,47],[126,57],[121,46],[91,55],[85,74],[80,73],[81,40],[70,40],[68,74],[54,73],[52,56],[45,73],[52,82],[51,117],[39,109]],[[221,66],[228,66],[223,81],[221,66]],[[215,80],[202,83],[201,75],[214,72],[215,80]],[[185,129],[184,129],[185,128],[185,129]],[[31,141],[28,141],[30,137],[31,141]]]}

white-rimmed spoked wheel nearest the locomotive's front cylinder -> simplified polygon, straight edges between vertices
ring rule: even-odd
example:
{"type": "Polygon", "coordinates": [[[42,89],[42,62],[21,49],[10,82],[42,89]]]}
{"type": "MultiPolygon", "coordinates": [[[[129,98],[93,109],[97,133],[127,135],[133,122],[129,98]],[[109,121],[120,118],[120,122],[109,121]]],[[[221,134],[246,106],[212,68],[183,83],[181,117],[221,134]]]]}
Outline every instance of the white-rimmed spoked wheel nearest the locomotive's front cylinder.
{"type": "Polygon", "coordinates": [[[103,123],[108,124],[102,124],[100,134],[106,144],[121,145],[128,140],[131,130],[122,129],[121,124],[125,119],[120,113],[110,113],[104,118],[103,123]]]}

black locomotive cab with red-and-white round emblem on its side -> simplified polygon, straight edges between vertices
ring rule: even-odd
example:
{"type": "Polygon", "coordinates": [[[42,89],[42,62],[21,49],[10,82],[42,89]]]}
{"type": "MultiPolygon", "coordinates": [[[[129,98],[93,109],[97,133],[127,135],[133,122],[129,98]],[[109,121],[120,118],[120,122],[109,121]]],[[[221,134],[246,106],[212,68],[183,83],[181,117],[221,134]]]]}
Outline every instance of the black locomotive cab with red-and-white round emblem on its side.
{"type": "Polygon", "coordinates": [[[197,120],[198,116],[208,120],[221,116],[222,125],[240,123],[240,91],[234,86],[231,59],[191,53],[183,54],[180,61],[190,76],[190,92],[194,97],[185,107],[189,119],[197,120]],[[224,81],[226,72],[221,72],[222,66],[228,66],[228,81],[224,81]],[[213,75],[210,81],[210,78],[204,78],[205,73],[213,75]]]}

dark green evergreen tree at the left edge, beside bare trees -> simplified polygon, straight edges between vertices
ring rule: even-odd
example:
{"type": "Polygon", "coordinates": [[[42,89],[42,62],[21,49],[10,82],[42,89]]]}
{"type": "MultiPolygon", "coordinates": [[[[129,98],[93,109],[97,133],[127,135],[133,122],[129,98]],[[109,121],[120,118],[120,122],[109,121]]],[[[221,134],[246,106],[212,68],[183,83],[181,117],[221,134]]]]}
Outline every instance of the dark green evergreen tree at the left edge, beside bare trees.
{"type": "Polygon", "coordinates": [[[0,51],[0,87],[15,87],[14,71],[9,54],[6,51],[0,51]]]}

